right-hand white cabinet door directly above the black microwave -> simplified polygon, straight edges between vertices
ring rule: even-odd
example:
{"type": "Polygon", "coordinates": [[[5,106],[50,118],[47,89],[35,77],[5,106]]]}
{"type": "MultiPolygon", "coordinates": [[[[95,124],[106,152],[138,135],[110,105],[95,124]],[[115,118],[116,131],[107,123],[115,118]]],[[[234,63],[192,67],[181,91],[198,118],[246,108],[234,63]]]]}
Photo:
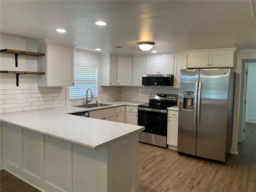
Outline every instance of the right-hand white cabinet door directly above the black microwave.
{"type": "Polygon", "coordinates": [[[161,55],[158,74],[173,74],[174,55],[161,55]]]}

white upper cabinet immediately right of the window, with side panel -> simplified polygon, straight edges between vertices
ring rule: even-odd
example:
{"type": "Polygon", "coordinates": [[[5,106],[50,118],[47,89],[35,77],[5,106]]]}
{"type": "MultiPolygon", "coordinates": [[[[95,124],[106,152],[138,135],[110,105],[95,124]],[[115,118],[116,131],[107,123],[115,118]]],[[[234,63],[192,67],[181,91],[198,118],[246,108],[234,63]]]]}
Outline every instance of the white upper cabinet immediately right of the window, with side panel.
{"type": "Polygon", "coordinates": [[[100,59],[101,85],[117,85],[117,56],[102,54],[100,59]]]}

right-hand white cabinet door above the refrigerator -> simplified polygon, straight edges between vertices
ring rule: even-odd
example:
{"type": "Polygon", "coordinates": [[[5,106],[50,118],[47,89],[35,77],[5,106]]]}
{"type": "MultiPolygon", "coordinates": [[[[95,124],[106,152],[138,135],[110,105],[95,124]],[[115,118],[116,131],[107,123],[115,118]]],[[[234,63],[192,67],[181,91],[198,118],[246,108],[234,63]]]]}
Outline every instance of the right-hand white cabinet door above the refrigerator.
{"type": "Polygon", "coordinates": [[[209,67],[211,68],[234,67],[234,52],[210,53],[209,67]]]}

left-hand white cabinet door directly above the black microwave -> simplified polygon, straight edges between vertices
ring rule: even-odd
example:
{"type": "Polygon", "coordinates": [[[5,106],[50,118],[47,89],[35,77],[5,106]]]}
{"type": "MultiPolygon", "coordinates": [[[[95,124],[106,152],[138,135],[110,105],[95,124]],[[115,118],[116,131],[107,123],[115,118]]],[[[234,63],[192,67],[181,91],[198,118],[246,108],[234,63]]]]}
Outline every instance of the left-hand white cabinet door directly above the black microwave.
{"type": "Polygon", "coordinates": [[[147,75],[156,75],[159,72],[159,56],[146,57],[146,71],[147,75]]]}

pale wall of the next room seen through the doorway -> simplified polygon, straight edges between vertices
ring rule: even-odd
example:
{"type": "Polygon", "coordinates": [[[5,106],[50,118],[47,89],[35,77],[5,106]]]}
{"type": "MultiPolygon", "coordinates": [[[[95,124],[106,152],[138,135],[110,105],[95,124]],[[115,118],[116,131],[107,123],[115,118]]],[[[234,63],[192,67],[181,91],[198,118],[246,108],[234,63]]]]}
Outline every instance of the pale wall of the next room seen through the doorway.
{"type": "Polygon", "coordinates": [[[248,64],[245,121],[256,123],[256,63],[248,64]]]}

